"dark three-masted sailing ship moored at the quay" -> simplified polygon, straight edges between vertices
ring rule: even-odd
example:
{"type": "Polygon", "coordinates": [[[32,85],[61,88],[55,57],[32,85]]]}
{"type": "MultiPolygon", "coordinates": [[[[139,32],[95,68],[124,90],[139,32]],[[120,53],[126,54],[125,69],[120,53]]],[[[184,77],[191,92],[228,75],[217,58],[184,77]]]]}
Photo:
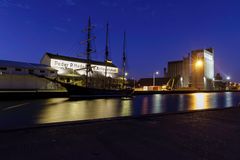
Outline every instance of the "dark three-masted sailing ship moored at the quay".
{"type": "Polygon", "coordinates": [[[80,86],[73,83],[66,83],[54,80],[61,84],[63,87],[66,88],[68,94],[71,98],[98,98],[98,97],[129,97],[133,94],[134,90],[126,86],[126,32],[124,32],[124,41],[123,41],[123,59],[122,59],[122,75],[121,75],[121,87],[109,87],[107,85],[107,63],[109,63],[109,30],[108,30],[108,23],[106,29],[106,48],[105,48],[105,79],[104,85],[102,88],[96,88],[94,85],[91,85],[90,82],[90,73],[92,73],[92,66],[91,66],[91,54],[95,52],[92,48],[91,41],[95,39],[91,35],[92,31],[92,24],[91,18],[88,19],[88,26],[87,26],[87,40],[86,42],[86,76],[85,76],[85,86],[80,86]]]}

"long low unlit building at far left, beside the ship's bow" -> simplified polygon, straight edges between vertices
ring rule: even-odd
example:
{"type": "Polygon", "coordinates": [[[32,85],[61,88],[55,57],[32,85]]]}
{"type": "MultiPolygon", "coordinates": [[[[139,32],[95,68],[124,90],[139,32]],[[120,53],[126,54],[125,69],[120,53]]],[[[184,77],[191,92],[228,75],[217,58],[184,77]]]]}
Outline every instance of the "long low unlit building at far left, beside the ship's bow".
{"type": "Polygon", "coordinates": [[[28,90],[56,89],[58,87],[56,84],[32,74],[54,78],[57,76],[57,71],[43,64],[0,60],[0,89],[28,90]]]}

